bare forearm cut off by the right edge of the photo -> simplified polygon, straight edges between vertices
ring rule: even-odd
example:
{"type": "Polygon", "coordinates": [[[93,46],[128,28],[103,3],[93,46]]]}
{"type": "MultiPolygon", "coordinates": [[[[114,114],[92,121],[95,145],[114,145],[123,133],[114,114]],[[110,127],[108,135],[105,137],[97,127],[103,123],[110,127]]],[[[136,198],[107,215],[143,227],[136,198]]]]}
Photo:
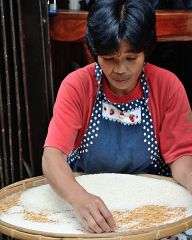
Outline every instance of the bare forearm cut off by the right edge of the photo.
{"type": "Polygon", "coordinates": [[[170,164],[173,178],[192,192],[192,156],[183,156],[170,164]]]}

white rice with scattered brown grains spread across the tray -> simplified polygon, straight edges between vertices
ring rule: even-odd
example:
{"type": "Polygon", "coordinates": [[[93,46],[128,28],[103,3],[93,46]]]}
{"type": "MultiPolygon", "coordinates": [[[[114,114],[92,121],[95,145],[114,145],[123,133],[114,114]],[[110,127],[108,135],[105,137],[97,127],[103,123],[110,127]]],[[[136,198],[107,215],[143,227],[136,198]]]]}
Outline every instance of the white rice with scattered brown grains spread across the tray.
{"type": "MultiPolygon", "coordinates": [[[[191,193],[174,182],[113,173],[83,175],[76,180],[103,199],[119,232],[173,223],[192,215],[191,193]]],[[[87,233],[71,206],[48,184],[25,190],[6,208],[8,202],[0,202],[6,209],[0,208],[0,220],[4,222],[42,232],[87,233]]]]}

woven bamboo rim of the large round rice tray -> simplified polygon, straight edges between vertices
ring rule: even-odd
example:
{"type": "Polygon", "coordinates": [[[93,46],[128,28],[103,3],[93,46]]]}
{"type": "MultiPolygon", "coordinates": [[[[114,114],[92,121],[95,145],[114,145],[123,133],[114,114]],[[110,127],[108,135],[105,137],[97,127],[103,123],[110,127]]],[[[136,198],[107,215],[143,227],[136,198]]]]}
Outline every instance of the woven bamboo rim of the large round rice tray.
{"type": "MultiPolygon", "coordinates": [[[[79,175],[79,174],[78,174],[79,175]]],[[[166,179],[174,181],[172,178],[160,177],[154,175],[143,174],[142,176],[152,177],[157,179],[166,179]]],[[[34,177],[20,182],[11,184],[0,190],[0,201],[10,196],[13,193],[22,192],[28,188],[46,184],[44,177],[34,177]]],[[[40,232],[30,229],[17,227],[0,220],[0,233],[16,239],[24,240],[154,240],[174,235],[192,228],[192,216],[183,218],[174,223],[164,224],[160,227],[147,228],[144,230],[136,230],[123,233],[102,233],[102,234],[56,234],[49,232],[40,232]]]]}

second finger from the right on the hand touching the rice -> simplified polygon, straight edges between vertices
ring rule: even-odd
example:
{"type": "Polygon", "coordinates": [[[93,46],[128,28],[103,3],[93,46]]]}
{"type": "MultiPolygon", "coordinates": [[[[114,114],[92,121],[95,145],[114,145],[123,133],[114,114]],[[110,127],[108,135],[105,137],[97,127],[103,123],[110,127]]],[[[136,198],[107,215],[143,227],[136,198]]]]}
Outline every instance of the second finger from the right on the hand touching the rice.
{"type": "Polygon", "coordinates": [[[101,214],[100,210],[95,211],[91,209],[91,215],[97,225],[104,231],[104,232],[111,232],[111,227],[109,226],[108,222],[105,220],[104,216],[101,214]]]}

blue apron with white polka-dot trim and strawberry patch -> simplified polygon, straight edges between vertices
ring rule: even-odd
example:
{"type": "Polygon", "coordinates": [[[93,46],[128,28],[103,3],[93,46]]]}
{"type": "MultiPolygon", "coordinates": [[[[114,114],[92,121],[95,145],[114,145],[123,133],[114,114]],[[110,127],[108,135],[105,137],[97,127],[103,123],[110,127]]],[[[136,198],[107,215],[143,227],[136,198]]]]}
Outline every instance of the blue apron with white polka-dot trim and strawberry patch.
{"type": "Polygon", "coordinates": [[[102,88],[102,70],[96,64],[98,92],[89,126],[81,145],[68,156],[73,171],[85,173],[150,173],[170,176],[160,156],[144,71],[143,97],[118,104],[110,102],[102,88]]]}

